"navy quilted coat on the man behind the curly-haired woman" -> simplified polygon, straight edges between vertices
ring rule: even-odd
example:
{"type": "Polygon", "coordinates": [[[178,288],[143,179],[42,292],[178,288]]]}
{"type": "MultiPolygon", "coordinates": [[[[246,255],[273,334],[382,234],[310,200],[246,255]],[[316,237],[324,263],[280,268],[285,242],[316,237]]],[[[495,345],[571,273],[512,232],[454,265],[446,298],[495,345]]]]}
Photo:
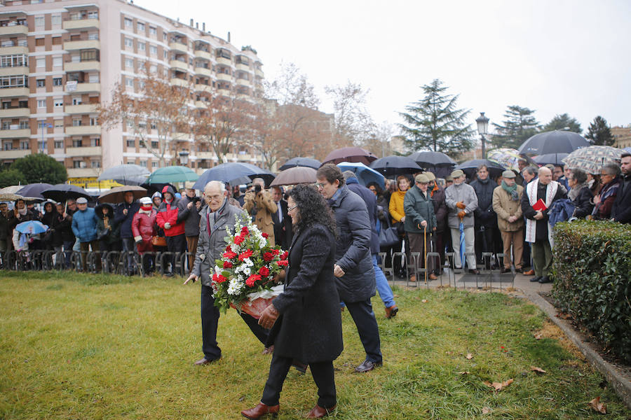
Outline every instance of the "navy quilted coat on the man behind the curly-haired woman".
{"type": "Polygon", "coordinates": [[[374,296],[375,281],[370,254],[372,229],[366,204],[347,186],[331,204],[337,222],[336,264],[344,270],[337,277],[337,292],[344,302],[362,302],[374,296]]]}

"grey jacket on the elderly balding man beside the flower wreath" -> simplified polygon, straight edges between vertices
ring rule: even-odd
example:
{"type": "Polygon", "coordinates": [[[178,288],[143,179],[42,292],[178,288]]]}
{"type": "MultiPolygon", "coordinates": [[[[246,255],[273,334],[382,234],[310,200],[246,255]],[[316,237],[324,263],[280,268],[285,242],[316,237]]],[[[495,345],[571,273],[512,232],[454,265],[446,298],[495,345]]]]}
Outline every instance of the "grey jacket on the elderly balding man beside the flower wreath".
{"type": "MultiPolygon", "coordinates": [[[[215,269],[215,260],[222,258],[222,253],[226,249],[226,226],[234,231],[234,225],[237,218],[247,213],[228,204],[224,200],[222,207],[215,212],[217,219],[213,220],[215,214],[211,214],[210,232],[208,232],[208,206],[202,207],[199,211],[199,240],[197,243],[197,253],[195,254],[195,263],[193,265],[192,274],[201,279],[204,286],[211,286],[212,270],[215,269]]],[[[249,217],[249,216],[248,216],[249,217]]]]}

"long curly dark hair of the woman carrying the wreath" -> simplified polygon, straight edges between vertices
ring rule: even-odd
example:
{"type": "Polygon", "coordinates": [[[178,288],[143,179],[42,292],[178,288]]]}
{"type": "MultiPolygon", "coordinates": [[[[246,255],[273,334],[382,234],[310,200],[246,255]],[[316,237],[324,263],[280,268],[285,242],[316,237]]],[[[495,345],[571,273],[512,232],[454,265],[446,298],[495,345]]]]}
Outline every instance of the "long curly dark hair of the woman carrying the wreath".
{"type": "Polygon", "coordinates": [[[337,238],[337,223],[333,211],[324,197],[313,186],[298,185],[289,193],[300,211],[298,230],[305,230],[320,223],[337,238]]]}

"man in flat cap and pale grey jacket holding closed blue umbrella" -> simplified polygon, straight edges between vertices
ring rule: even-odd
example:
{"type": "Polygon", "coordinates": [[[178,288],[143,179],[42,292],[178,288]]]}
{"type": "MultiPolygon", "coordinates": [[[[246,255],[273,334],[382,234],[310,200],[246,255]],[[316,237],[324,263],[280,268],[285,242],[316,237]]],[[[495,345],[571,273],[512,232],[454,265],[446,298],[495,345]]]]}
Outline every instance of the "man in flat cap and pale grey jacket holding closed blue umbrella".
{"type": "MultiPolygon", "coordinates": [[[[461,169],[452,172],[454,184],[445,190],[445,203],[449,213],[447,224],[452,230],[452,244],[454,244],[454,265],[463,267],[460,252],[460,223],[462,222],[465,235],[465,253],[474,253],[475,232],[473,231],[473,212],[477,209],[477,195],[472,186],[465,183],[465,174],[461,169]]],[[[475,267],[475,255],[468,255],[467,266],[471,274],[480,274],[475,267]]]]}

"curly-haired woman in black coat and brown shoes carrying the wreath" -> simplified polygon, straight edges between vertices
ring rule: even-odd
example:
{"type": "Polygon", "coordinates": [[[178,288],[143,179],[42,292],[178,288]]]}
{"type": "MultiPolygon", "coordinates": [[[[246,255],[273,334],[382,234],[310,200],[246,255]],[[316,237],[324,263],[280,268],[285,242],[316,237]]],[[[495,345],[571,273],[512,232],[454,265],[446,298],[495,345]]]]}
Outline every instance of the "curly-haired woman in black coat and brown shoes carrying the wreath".
{"type": "Polygon", "coordinates": [[[274,345],[274,353],[261,402],[241,412],[247,419],[278,413],[280,390],[294,359],[308,363],[318,386],[318,402],[307,418],[327,416],[337,404],[333,360],[344,345],[333,276],[335,219],[311,186],[291,190],[287,213],[294,238],[285,290],[259,319],[260,325],[271,328],[267,344],[274,345]]]}

